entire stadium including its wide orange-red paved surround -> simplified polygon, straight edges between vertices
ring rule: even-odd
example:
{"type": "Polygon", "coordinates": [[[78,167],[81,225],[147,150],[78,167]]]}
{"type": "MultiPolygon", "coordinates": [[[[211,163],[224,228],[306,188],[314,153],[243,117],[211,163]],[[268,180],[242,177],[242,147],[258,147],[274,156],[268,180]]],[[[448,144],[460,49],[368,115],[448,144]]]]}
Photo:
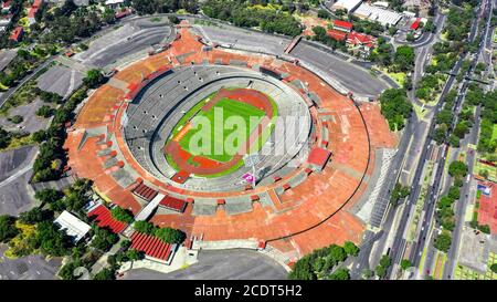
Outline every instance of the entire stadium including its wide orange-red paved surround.
{"type": "Polygon", "coordinates": [[[89,95],[65,148],[74,174],[136,220],[179,228],[193,249],[262,249],[290,263],[360,242],[353,205],[374,150],[395,139],[377,106],[299,62],[215,48],[183,21],[162,52],[89,95]],[[247,125],[239,136],[226,127],[236,118],[247,125]]]}

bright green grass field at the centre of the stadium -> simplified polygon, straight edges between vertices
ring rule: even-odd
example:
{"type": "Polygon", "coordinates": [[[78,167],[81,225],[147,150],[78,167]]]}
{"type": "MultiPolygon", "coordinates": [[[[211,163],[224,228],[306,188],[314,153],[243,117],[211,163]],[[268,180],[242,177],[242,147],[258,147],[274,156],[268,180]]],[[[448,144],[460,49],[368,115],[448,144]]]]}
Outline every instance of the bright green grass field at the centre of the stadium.
{"type": "MultiPolygon", "coordinates": [[[[244,104],[242,102],[237,102],[237,101],[232,101],[229,98],[222,98],[212,108],[210,108],[209,111],[201,111],[197,114],[197,116],[203,116],[207,117],[210,122],[210,128],[207,129],[208,132],[210,132],[210,139],[203,139],[205,137],[208,137],[209,133],[203,135],[200,134],[200,132],[204,132],[205,129],[203,129],[202,126],[197,127],[197,125],[194,125],[194,128],[192,128],[191,131],[189,131],[184,137],[182,137],[180,139],[180,145],[181,147],[193,154],[193,155],[202,155],[207,158],[216,160],[216,162],[222,162],[222,163],[226,163],[229,160],[231,160],[233,158],[234,154],[228,153],[226,150],[223,150],[221,154],[216,154],[214,152],[215,146],[224,146],[225,139],[230,136],[230,134],[236,132],[237,129],[228,129],[225,127],[216,127],[215,123],[216,121],[214,121],[215,117],[215,112],[216,110],[221,108],[222,110],[222,114],[223,114],[223,121],[221,122],[225,122],[228,118],[233,117],[233,116],[237,116],[241,117],[246,125],[245,128],[245,133],[243,134],[244,139],[243,142],[240,142],[242,139],[236,139],[236,144],[239,146],[241,146],[242,144],[244,144],[246,142],[246,139],[248,138],[251,132],[255,128],[255,126],[257,126],[258,122],[261,121],[261,118],[265,115],[265,113],[254,106],[251,106],[248,104],[244,104]],[[252,123],[251,125],[251,118],[253,119],[254,117],[256,117],[257,123],[252,123]],[[192,138],[194,138],[197,142],[197,138],[203,137],[200,142],[200,144],[202,146],[208,146],[210,147],[210,150],[208,154],[200,154],[199,150],[192,149],[192,146],[197,145],[197,144],[192,144],[192,138]]],[[[194,118],[192,119],[194,123],[194,118]]],[[[218,121],[219,122],[219,121],[218,121]]]]}

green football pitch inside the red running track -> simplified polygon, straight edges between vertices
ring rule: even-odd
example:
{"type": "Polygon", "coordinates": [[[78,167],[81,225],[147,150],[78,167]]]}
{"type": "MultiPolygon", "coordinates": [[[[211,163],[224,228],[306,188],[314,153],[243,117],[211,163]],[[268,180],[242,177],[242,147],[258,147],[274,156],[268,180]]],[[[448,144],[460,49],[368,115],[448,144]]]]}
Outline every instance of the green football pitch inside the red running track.
{"type": "Polygon", "coordinates": [[[222,98],[209,111],[198,112],[193,119],[191,119],[193,127],[180,139],[179,144],[184,150],[192,155],[202,155],[203,157],[216,162],[226,163],[233,158],[234,152],[224,149],[224,147],[220,150],[220,146],[224,146],[225,139],[230,137],[230,135],[233,137],[234,132],[240,132],[236,135],[240,136],[240,139],[234,139],[234,145],[241,146],[246,143],[252,131],[265,115],[264,111],[252,105],[230,98],[222,98]],[[216,121],[220,116],[220,110],[222,110],[222,119],[216,121]],[[218,115],[215,114],[216,112],[218,115]],[[244,129],[243,127],[236,128],[236,126],[234,128],[223,126],[230,117],[237,117],[240,122],[243,121],[245,125],[244,129]],[[209,121],[209,123],[204,123],[207,121],[209,121]],[[195,146],[200,146],[200,148],[197,148],[195,146]]]}

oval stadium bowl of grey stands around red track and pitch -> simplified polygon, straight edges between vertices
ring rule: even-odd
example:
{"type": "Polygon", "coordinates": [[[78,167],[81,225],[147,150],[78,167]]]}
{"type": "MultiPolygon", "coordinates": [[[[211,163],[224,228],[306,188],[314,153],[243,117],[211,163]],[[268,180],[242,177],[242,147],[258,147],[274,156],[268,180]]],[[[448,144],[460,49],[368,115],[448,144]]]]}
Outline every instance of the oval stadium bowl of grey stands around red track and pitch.
{"type": "Polygon", "coordinates": [[[125,121],[124,137],[141,167],[192,190],[243,189],[243,176],[253,171],[264,183],[300,165],[309,152],[311,119],[302,96],[282,81],[242,66],[166,70],[139,88],[125,121]],[[207,118],[208,128],[195,122],[199,117],[207,118]],[[230,121],[244,129],[237,132],[240,125],[230,121]],[[202,139],[193,142],[195,135],[202,139]],[[254,167],[246,165],[248,154],[257,155],[254,167]]]}

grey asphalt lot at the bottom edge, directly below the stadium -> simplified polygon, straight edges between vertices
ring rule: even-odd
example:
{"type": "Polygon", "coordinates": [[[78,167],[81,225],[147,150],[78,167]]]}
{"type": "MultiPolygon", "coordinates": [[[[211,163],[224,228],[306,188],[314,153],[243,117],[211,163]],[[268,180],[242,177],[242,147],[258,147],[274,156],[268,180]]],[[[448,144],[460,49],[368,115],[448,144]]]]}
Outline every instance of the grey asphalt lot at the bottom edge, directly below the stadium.
{"type": "Polygon", "coordinates": [[[160,273],[131,270],[124,280],[284,280],[287,272],[276,261],[251,250],[199,252],[199,262],[184,270],[160,273]]]}

